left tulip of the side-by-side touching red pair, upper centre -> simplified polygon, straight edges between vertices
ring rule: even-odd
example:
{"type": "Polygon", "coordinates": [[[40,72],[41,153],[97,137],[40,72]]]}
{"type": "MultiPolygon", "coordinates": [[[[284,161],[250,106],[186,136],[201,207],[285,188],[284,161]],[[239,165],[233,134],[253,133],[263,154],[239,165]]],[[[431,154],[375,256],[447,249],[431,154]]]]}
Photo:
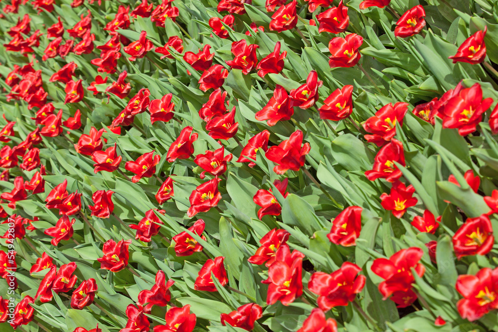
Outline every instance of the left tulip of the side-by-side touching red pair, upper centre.
{"type": "Polygon", "coordinates": [[[275,125],[278,121],[289,120],[294,114],[291,99],[284,87],[275,86],[273,97],[270,98],[268,104],[261,111],[256,112],[256,120],[268,120],[266,123],[269,126],[275,125]]]}

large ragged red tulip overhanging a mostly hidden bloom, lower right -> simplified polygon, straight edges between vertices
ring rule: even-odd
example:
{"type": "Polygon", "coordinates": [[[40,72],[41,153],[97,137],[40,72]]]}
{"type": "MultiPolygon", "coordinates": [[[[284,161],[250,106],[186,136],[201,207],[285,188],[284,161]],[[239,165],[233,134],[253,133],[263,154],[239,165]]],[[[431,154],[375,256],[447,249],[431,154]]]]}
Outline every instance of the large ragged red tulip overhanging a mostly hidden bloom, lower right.
{"type": "MultiPolygon", "coordinates": [[[[384,279],[378,285],[378,290],[384,297],[383,300],[387,299],[390,295],[394,296],[395,294],[393,293],[396,292],[406,293],[411,291],[412,283],[415,282],[411,269],[413,268],[419,277],[423,276],[425,272],[425,267],[419,263],[422,255],[422,249],[410,247],[399,250],[389,259],[377,258],[373,261],[373,273],[384,279]]],[[[410,304],[413,303],[416,300],[416,296],[410,300],[412,300],[410,304]]],[[[399,301],[396,303],[399,304],[399,301]]]]}

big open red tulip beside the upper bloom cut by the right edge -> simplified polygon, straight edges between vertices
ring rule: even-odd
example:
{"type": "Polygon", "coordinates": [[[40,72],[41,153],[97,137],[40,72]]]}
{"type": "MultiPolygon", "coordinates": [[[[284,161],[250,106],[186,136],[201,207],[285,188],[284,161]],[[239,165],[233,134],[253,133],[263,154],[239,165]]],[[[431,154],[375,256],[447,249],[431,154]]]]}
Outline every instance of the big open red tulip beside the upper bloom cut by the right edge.
{"type": "Polygon", "coordinates": [[[443,128],[458,128],[458,133],[462,136],[476,131],[476,126],[483,120],[483,113],[492,103],[492,98],[483,99],[483,90],[479,83],[462,89],[448,100],[442,110],[443,128]]]}

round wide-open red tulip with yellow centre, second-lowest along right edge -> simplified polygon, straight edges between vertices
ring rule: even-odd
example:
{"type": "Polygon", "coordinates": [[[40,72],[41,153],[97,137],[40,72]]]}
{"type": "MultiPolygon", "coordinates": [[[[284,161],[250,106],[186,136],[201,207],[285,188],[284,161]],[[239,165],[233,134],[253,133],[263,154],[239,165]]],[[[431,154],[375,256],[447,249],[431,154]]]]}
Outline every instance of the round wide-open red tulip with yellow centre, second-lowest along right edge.
{"type": "Polygon", "coordinates": [[[469,218],[453,235],[453,249],[458,259],[469,255],[486,255],[495,237],[488,215],[469,218]]]}

